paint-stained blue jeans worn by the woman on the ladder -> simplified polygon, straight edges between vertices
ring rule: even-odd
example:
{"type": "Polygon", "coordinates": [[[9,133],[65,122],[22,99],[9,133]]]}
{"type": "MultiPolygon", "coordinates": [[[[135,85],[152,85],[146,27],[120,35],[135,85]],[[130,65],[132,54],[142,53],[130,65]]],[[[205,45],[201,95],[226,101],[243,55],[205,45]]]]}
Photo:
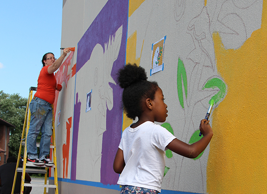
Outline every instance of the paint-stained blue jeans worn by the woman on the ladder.
{"type": "Polygon", "coordinates": [[[27,153],[29,159],[45,159],[50,154],[52,135],[52,106],[49,102],[36,97],[29,105],[31,111],[30,128],[27,135],[27,153]],[[41,130],[40,154],[38,157],[36,139],[41,130]]]}

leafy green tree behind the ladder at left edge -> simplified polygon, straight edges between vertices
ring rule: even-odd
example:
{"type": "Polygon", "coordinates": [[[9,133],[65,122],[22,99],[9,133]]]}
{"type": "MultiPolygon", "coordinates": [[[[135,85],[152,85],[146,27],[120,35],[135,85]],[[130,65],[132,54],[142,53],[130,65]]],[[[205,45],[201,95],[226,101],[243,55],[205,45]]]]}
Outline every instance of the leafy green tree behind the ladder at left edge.
{"type": "Polygon", "coordinates": [[[10,128],[9,156],[17,157],[23,130],[28,99],[19,94],[5,94],[0,91],[0,118],[14,125],[10,128]]]}

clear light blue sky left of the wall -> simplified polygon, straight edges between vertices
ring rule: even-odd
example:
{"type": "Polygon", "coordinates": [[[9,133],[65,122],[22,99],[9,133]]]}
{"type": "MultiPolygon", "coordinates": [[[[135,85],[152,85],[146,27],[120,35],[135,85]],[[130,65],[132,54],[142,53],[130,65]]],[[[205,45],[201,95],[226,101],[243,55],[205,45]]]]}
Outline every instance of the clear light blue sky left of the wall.
{"type": "Polygon", "coordinates": [[[61,55],[63,0],[0,1],[0,91],[29,97],[42,57],[61,55]]]}

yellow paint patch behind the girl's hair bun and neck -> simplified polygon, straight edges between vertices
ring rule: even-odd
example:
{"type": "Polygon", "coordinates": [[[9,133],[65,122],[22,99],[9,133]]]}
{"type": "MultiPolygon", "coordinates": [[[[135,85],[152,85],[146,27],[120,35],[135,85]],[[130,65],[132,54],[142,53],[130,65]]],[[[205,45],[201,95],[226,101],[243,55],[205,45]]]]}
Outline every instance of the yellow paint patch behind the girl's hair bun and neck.
{"type": "MultiPolygon", "coordinates": [[[[140,57],[136,59],[136,41],[137,41],[137,33],[136,31],[128,38],[127,46],[126,46],[126,64],[136,64],[140,65],[141,54],[143,51],[144,41],[141,49],[140,57]]],[[[133,120],[128,118],[125,113],[123,113],[123,122],[122,122],[122,131],[129,127],[133,123],[133,120]]]]}

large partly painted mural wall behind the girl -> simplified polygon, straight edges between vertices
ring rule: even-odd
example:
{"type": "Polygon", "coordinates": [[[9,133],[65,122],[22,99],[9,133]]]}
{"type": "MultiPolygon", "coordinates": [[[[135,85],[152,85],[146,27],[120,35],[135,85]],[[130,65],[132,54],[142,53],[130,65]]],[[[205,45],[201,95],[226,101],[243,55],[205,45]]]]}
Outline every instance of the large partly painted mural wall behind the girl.
{"type": "Polygon", "coordinates": [[[186,143],[215,102],[200,156],[166,151],[163,194],[266,193],[266,0],[63,0],[62,20],[62,47],[75,51],[56,73],[60,193],[119,193],[113,160],[133,122],[117,84],[126,63],[158,82],[169,115],[158,124],[186,143]]]}

